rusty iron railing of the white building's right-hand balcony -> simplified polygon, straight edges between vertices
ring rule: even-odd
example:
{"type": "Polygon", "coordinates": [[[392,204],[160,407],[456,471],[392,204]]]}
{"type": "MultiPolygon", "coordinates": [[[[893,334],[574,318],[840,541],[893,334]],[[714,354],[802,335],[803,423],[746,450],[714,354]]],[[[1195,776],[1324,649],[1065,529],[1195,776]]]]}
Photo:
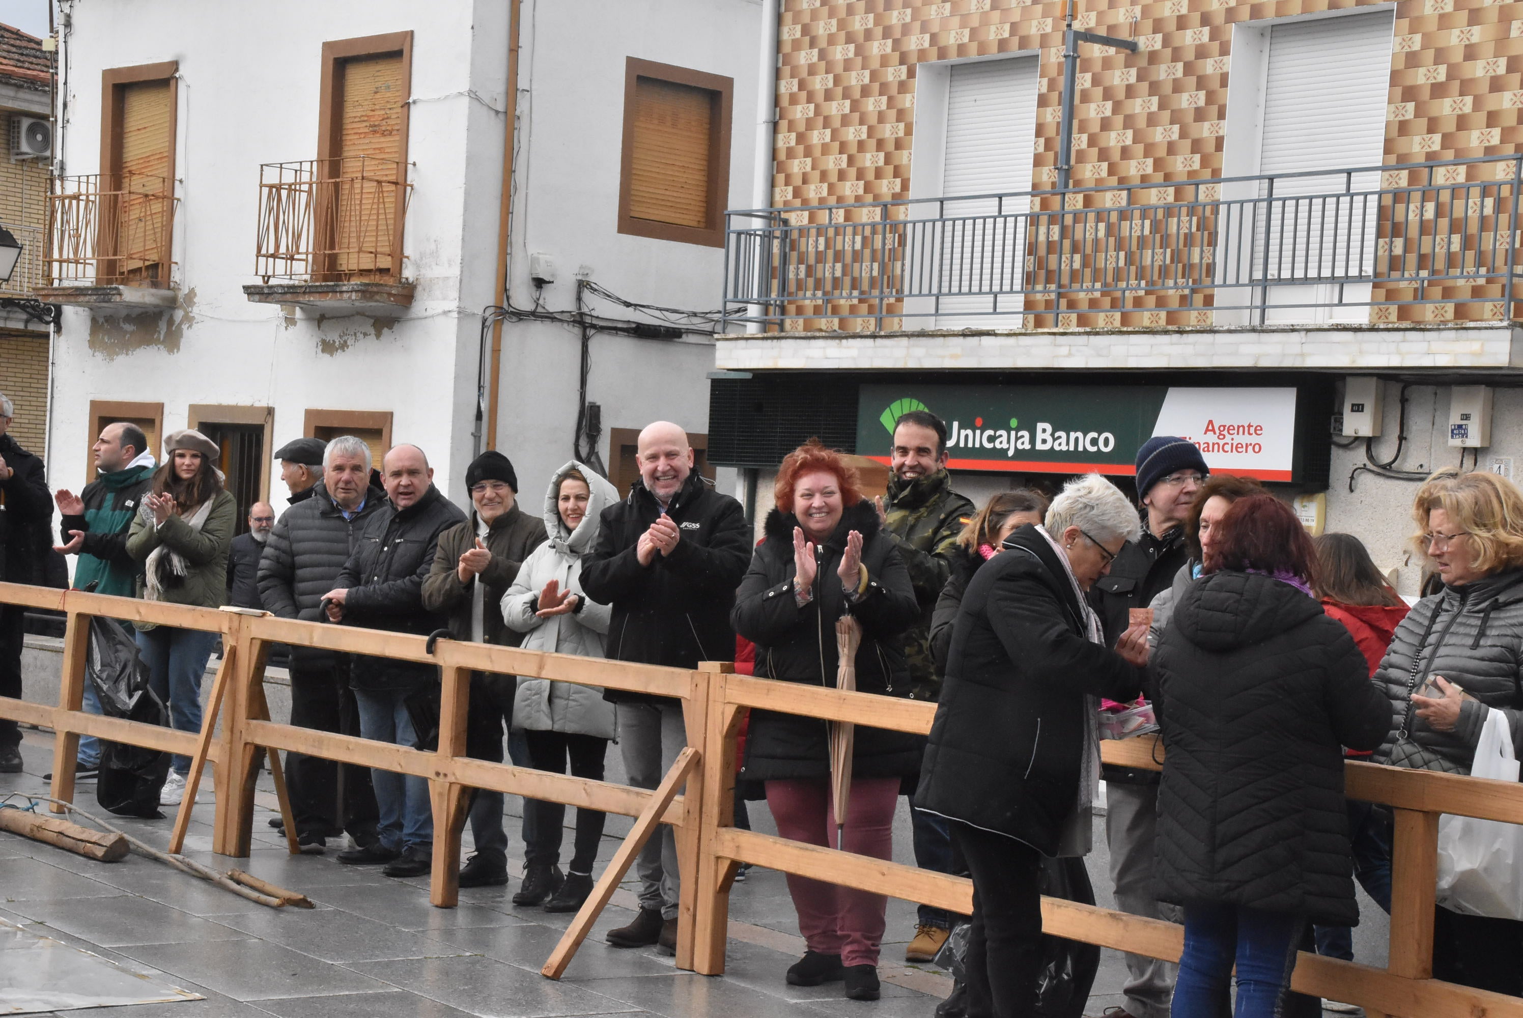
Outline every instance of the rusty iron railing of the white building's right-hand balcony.
{"type": "Polygon", "coordinates": [[[259,168],[254,274],[295,282],[399,282],[407,166],[346,155],[259,168]]]}

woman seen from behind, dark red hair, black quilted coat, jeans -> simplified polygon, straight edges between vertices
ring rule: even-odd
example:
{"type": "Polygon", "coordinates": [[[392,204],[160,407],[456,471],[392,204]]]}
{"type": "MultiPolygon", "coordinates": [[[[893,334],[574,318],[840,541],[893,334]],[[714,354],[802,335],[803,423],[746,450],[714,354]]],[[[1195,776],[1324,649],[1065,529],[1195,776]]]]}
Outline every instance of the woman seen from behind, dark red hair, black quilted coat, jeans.
{"type": "Polygon", "coordinates": [[[1311,593],[1316,552],[1273,495],[1232,503],[1153,655],[1168,754],[1159,899],[1185,907],[1174,1018],[1282,1013],[1308,922],[1354,925],[1343,747],[1374,750],[1390,707],[1311,593]]]}

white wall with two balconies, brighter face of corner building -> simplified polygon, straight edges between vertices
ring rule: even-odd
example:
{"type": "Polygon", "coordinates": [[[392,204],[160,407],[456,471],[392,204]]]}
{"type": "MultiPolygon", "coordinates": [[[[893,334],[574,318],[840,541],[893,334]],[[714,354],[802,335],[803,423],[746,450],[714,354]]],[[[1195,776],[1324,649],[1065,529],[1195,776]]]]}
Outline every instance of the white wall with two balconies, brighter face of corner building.
{"type": "Polygon", "coordinates": [[[190,402],[271,405],[276,447],[302,433],[306,408],[391,410],[393,440],[428,450],[442,479],[460,469],[469,404],[454,383],[457,373],[474,381],[475,364],[460,367],[458,351],[475,349],[478,309],[490,303],[495,233],[475,224],[495,222],[504,119],[489,107],[501,110],[506,85],[503,8],[455,0],[429,5],[426,17],[404,0],[76,8],[67,174],[101,165],[102,69],[180,62],[181,306],[123,320],[65,312],[58,483],[85,479],[91,399],[163,401],[166,430],[184,427],[190,402]],[[396,320],[323,322],[250,303],[241,287],[257,282],[259,165],[315,157],[323,41],[405,29],[414,32],[404,265],[417,283],[413,306],[396,320]]]}

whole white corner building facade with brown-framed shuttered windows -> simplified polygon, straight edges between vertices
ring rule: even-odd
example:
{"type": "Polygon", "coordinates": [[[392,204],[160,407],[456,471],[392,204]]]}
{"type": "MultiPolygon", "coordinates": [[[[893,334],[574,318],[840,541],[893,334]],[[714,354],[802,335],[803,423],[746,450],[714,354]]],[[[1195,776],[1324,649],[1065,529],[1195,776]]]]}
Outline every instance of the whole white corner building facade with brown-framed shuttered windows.
{"type": "Polygon", "coordinates": [[[641,306],[717,303],[722,213],[751,194],[758,3],[61,15],[55,485],[88,480],[113,419],[209,431],[241,501],[277,507],[273,453],[302,434],[419,445],[457,501],[495,447],[533,506],[579,421],[611,469],[626,428],[707,431],[713,326],[641,306]]]}

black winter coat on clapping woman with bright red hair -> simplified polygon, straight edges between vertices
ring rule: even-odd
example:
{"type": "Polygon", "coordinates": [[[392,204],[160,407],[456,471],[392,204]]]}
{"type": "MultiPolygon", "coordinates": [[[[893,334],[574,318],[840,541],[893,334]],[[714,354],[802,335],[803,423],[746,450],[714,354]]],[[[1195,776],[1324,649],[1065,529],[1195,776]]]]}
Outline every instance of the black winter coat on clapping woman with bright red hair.
{"type": "MultiPolygon", "coordinates": [[[[798,517],[774,509],[766,539],[740,581],[731,619],[736,632],[757,645],[755,675],[784,683],[835,687],[841,657],[836,619],[854,616],[862,626],[856,654],[856,687],[864,693],[909,696],[909,666],[899,649],[915,625],[920,605],[899,549],[879,529],[877,509],[859,501],[847,509],[830,538],[815,549],[813,600],[803,608],[793,597],[793,527],[798,517]],[[841,556],[847,535],[862,533],[867,590],[847,602],[841,556]]],[[[921,741],[908,731],[856,727],[851,759],[856,777],[905,777],[920,767],[921,741]]],[[[752,710],[746,759],[740,777],[778,780],[830,776],[830,722],[772,710],[752,710]]]]}

